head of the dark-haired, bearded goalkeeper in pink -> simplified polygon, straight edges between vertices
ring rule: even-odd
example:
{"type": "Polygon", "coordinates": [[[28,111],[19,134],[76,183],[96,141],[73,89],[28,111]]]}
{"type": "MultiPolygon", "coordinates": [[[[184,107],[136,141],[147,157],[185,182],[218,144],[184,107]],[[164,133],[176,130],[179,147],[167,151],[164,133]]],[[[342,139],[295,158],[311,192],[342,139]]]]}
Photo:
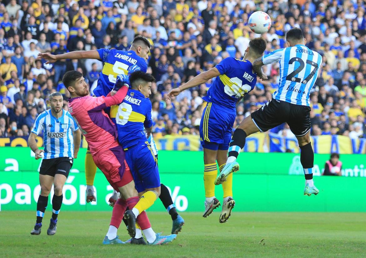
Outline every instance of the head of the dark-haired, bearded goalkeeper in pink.
{"type": "Polygon", "coordinates": [[[67,71],[62,78],[62,82],[70,92],[71,97],[83,97],[89,94],[88,85],[83,74],[78,71],[67,71]]]}

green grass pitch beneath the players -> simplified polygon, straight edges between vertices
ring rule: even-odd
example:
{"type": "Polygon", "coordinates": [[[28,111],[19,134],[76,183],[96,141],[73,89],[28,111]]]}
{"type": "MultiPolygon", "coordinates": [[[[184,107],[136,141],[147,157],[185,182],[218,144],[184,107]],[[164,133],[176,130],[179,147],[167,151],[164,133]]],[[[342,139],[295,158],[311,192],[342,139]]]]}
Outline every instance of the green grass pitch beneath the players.
{"type": "MultiPolygon", "coordinates": [[[[182,213],[186,225],[164,246],[103,246],[110,212],[61,211],[57,233],[31,236],[35,211],[0,212],[0,257],[365,257],[364,213],[235,213],[225,224],[182,213]]],[[[155,232],[171,231],[167,213],[148,213],[155,232]]],[[[119,236],[127,240],[124,226],[119,236]]]]}

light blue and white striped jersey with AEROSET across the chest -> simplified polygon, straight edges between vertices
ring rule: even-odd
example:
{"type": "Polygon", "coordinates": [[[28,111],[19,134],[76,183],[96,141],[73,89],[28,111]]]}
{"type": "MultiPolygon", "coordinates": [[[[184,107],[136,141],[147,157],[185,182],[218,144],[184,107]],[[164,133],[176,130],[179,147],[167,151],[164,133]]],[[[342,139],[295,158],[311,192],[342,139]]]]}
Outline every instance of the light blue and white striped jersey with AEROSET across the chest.
{"type": "Polygon", "coordinates": [[[44,159],[60,157],[74,158],[73,133],[79,129],[71,114],[62,110],[60,118],[52,115],[51,109],[38,115],[32,129],[32,133],[43,132],[44,159]]]}

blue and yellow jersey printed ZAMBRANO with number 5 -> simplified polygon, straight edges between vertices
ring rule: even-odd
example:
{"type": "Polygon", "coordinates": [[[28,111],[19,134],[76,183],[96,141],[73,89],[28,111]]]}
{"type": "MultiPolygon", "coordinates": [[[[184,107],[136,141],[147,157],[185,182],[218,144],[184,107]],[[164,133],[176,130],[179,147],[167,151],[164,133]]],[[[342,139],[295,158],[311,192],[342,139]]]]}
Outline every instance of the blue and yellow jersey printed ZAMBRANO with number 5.
{"type": "Polygon", "coordinates": [[[127,74],[128,68],[136,64],[141,71],[146,73],[147,64],[145,59],[138,56],[135,51],[122,51],[117,49],[97,49],[103,62],[103,70],[100,72],[97,88],[94,95],[97,97],[107,96],[112,91],[118,74],[127,74]]]}

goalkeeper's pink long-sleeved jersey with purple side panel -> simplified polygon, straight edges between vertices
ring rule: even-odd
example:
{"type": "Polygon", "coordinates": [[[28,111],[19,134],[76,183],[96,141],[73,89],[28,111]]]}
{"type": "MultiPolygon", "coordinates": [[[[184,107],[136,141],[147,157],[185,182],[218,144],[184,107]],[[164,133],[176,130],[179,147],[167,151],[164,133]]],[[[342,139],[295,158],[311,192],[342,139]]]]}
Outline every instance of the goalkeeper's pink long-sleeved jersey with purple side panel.
{"type": "Polygon", "coordinates": [[[122,87],[114,96],[84,96],[69,99],[69,112],[79,125],[91,154],[119,145],[116,125],[104,109],[122,103],[127,89],[122,87]]]}

